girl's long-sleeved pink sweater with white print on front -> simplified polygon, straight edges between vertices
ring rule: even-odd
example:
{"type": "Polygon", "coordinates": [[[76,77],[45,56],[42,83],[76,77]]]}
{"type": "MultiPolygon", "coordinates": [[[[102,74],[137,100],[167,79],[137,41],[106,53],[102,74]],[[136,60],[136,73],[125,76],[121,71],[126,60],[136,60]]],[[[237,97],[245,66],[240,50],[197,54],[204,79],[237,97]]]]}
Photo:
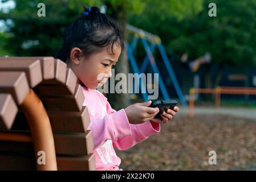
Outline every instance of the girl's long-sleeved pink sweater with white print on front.
{"type": "Polygon", "coordinates": [[[130,124],[124,109],[111,108],[107,98],[96,89],[83,88],[84,106],[88,107],[91,123],[88,130],[94,136],[96,170],[119,170],[121,160],[117,150],[127,150],[135,144],[160,131],[160,125],[146,121],[130,124]]]}

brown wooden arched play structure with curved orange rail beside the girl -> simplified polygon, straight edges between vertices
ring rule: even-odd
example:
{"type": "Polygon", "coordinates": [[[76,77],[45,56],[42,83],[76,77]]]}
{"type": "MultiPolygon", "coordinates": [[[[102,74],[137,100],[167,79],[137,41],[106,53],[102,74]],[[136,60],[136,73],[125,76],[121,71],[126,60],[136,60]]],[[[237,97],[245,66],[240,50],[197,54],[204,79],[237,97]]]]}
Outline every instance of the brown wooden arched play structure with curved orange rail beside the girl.
{"type": "Polygon", "coordinates": [[[78,79],[54,57],[0,58],[0,170],[95,170],[78,79]]]}

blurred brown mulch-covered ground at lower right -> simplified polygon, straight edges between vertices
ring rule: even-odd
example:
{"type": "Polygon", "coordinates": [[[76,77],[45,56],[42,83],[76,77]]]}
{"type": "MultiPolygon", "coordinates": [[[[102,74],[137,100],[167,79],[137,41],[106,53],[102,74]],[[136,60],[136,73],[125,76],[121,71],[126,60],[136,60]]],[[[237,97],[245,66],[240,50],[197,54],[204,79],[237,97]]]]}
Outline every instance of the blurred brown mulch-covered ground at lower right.
{"type": "Polygon", "coordinates": [[[124,170],[256,169],[256,119],[177,115],[159,134],[117,155],[124,170]],[[216,165],[208,163],[212,150],[216,165]]]}

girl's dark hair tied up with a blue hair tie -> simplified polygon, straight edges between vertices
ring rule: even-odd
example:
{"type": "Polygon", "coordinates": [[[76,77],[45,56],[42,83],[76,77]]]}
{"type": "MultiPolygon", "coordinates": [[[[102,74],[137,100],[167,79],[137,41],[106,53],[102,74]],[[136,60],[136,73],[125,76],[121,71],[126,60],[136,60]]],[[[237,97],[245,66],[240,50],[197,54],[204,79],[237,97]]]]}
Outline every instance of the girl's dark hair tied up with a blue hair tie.
{"type": "Polygon", "coordinates": [[[103,47],[117,44],[123,49],[123,38],[116,21],[108,15],[100,13],[98,7],[85,8],[83,14],[70,24],[64,32],[64,43],[56,58],[66,62],[70,58],[72,48],[78,47],[87,57],[101,51],[103,47]]]}

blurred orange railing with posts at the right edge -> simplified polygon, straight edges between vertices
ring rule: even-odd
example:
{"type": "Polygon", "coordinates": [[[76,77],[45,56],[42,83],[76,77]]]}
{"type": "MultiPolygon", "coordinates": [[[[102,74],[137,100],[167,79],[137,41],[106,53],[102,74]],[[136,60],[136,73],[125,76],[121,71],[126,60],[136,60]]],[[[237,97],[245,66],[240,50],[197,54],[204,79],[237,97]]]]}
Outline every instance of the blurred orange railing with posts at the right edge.
{"type": "Polygon", "coordinates": [[[220,108],[221,106],[221,94],[251,94],[256,95],[256,88],[247,88],[247,87],[217,87],[215,89],[194,89],[189,90],[189,118],[194,117],[194,94],[195,93],[209,93],[215,94],[216,107],[220,108]]]}

